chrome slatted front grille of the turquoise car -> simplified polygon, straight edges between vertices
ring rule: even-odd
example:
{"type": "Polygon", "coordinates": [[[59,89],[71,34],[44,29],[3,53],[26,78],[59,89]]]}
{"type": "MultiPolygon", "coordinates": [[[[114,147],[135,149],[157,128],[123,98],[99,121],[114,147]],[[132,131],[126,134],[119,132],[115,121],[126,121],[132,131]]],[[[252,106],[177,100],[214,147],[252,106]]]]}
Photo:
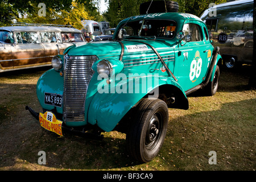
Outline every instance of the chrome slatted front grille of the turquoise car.
{"type": "Polygon", "coordinates": [[[63,119],[64,122],[85,121],[85,98],[94,71],[96,56],[65,56],[63,119]]]}

